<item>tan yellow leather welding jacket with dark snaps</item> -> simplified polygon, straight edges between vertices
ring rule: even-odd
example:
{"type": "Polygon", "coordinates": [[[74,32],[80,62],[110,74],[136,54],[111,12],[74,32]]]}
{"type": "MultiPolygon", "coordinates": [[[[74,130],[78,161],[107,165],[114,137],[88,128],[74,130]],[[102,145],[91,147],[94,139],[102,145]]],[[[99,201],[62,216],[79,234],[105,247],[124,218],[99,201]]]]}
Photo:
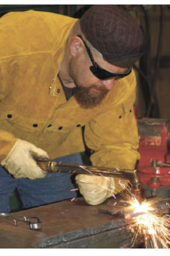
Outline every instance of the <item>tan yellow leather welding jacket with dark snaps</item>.
{"type": "MultiPolygon", "coordinates": [[[[135,75],[118,80],[96,108],[66,101],[57,79],[70,30],[77,19],[49,12],[15,12],[0,25],[0,160],[16,138],[43,148],[50,158],[95,151],[95,166],[134,168],[139,158],[134,118],[135,75]]],[[[79,71],[78,71],[79,72],[79,71]]]]}

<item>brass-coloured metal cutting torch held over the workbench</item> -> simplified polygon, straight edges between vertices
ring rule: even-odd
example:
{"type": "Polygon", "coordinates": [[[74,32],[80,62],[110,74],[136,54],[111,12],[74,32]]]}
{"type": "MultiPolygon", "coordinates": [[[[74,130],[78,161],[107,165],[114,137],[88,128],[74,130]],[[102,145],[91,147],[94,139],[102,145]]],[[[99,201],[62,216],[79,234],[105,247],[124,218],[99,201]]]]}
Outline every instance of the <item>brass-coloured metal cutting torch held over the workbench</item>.
{"type": "Polygon", "coordinates": [[[139,203],[142,202],[141,183],[137,174],[137,170],[67,164],[51,160],[37,161],[37,163],[45,172],[66,172],[68,174],[86,174],[128,179],[132,185],[132,193],[139,201],[139,203]]]}

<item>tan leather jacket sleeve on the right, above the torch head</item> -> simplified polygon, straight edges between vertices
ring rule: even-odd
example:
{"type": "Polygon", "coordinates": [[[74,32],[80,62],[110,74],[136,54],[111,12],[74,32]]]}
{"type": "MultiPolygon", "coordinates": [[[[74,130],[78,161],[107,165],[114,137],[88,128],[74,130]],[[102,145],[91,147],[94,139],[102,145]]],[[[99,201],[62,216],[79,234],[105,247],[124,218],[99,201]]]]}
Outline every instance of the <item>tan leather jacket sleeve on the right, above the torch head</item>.
{"type": "MultiPolygon", "coordinates": [[[[133,169],[140,158],[133,111],[136,84],[134,72],[128,79],[127,89],[123,88],[122,95],[118,93],[116,96],[117,103],[97,114],[86,126],[85,141],[94,150],[91,155],[94,166],[133,169]]],[[[118,86],[121,88],[121,84],[118,86]]]]}

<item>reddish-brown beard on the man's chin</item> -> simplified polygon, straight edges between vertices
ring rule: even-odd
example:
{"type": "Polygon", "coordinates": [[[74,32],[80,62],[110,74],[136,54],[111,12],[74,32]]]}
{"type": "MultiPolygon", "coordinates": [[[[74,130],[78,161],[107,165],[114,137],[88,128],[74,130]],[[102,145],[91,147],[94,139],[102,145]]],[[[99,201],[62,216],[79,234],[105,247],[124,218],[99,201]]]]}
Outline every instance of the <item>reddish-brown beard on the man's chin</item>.
{"type": "Polygon", "coordinates": [[[81,87],[77,84],[75,85],[75,100],[77,100],[77,102],[84,109],[94,108],[95,106],[99,105],[109,91],[104,86],[99,87],[96,85],[92,85],[90,87],[81,87]]]}

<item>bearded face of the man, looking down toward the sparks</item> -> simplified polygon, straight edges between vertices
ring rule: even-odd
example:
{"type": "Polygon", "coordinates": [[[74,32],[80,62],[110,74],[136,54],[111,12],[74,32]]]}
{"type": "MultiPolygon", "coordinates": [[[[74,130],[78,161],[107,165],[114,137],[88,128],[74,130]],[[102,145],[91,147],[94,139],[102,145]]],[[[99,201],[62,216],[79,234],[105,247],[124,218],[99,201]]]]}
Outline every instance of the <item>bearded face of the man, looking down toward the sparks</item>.
{"type": "Polygon", "coordinates": [[[84,47],[83,53],[70,62],[70,76],[75,84],[74,97],[83,108],[93,108],[100,104],[118,79],[121,79],[118,75],[126,74],[127,71],[130,73],[129,69],[104,61],[101,54],[95,57],[96,61],[92,62],[84,47]]]}

